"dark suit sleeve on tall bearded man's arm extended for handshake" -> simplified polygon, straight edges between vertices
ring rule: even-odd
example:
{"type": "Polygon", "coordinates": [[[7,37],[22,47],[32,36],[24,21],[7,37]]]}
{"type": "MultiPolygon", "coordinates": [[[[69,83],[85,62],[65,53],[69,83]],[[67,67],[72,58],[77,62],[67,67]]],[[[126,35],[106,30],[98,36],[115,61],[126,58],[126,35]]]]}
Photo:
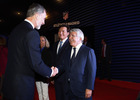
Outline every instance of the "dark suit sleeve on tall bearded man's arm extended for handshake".
{"type": "Polygon", "coordinates": [[[39,33],[35,30],[29,32],[25,40],[28,61],[30,63],[31,69],[33,69],[35,72],[44,77],[50,77],[52,70],[42,61],[39,44],[39,33]]]}

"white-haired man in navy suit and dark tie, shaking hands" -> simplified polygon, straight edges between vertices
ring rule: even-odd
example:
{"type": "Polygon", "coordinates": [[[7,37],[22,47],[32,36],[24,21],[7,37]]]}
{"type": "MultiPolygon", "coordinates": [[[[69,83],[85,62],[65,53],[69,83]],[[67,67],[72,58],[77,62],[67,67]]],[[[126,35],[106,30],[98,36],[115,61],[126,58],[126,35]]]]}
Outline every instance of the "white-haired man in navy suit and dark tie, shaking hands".
{"type": "Polygon", "coordinates": [[[84,34],[80,29],[70,30],[71,47],[66,50],[64,59],[65,100],[92,100],[96,56],[93,49],[82,44],[83,40],[84,34]]]}

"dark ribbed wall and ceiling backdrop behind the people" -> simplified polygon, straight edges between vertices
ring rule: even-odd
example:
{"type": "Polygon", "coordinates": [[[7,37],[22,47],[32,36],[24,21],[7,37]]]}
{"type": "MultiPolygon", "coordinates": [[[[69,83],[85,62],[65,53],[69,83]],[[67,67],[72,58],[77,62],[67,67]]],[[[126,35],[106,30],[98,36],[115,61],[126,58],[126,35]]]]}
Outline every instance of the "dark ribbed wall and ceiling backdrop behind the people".
{"type": "MultiPolygon", "coordinates": [[[[88,36],[97,59],[101,39],[112,46],[112,78],[140,83],[140,0],[19,0],[0,3],[0,34],[9,36],[11,30],[24,20],[30,4],[42,4],[49,14],[39,30],[51,43],[58,28],[53,24],[64,22],[62,13],[69,11],[68,22],[79,25],[88,36]],[[17,15],[17,11],[21,15],[17,15]]],[[[99,67],[99,65],[98,65],[99,67]]],[[[97,77],[99,71],[97,71],[97,77]]]]}

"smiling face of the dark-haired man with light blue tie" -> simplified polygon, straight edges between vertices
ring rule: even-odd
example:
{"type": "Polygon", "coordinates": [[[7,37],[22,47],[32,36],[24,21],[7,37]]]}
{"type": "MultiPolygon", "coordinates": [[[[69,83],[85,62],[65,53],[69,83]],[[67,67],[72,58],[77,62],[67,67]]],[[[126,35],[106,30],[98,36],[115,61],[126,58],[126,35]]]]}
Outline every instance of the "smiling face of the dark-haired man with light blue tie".
{"type": "Polygon", "coordinates": [[[60,38],[60,40],[64,40],[68,37],[69,32],[67,32],[67,27],[60,27],[59,31],[58,31],[58,36],[60,38]]]}

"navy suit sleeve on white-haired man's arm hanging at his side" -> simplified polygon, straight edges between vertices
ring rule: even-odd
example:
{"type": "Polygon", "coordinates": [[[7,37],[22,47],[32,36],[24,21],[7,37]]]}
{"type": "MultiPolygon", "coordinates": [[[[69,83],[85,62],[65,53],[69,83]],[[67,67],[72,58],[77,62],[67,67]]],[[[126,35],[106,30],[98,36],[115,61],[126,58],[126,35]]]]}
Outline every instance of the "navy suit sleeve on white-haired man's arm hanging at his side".
{"type": "Polygon", "coordinates": [[[94,82],[96,78],[96,56],[93,49],[90,49],[87,58],[87,89],[94,90],[94,82]]]}

